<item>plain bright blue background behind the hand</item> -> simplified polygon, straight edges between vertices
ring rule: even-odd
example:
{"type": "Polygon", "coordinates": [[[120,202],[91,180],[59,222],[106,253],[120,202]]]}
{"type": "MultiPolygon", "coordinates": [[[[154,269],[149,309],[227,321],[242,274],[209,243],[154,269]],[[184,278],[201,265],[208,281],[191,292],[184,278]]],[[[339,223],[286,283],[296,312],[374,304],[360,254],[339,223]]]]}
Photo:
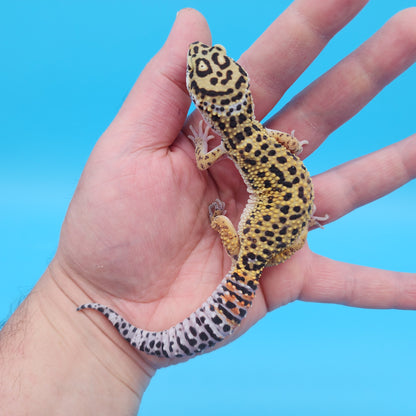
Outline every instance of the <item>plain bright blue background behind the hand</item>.
{"type": "MultiPolygon", "coordinates": [[[[199,9],[213,41],[238,57],[289,3],[224,1],[221,12],[215,2],[196,0],[1,3],[0,320],[54,256],[88,155],[176,12],[199,9]]],[[[411,3],[370,3],[282,103],[411,3]]],[[[312,173],[414,133],[415,85],[412,67],[308,159],[312,173]]],[[[415,272],[415,191],[413,181],[311,233],[312,249],[415,272]]],[[[140,414],[414,415],[415,318],[413,311],[295,302],[232,345],[158,372],[140,414]]]]}

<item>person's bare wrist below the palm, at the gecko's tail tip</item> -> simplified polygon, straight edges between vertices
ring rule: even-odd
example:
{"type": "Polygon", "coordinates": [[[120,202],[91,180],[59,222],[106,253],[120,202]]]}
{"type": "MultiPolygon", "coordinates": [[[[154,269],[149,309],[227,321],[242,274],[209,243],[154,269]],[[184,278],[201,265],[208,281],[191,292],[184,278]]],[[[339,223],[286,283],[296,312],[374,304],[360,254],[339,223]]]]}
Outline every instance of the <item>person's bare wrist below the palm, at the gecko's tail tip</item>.
{"type": "Polygon", "coordinates": [[[9,414],[137,411],[154,369],[94,317],[78,314],[82,301],[85,293],[53,261],[6,324],[0,379],[18,379],[0,386],[9,414]]]}

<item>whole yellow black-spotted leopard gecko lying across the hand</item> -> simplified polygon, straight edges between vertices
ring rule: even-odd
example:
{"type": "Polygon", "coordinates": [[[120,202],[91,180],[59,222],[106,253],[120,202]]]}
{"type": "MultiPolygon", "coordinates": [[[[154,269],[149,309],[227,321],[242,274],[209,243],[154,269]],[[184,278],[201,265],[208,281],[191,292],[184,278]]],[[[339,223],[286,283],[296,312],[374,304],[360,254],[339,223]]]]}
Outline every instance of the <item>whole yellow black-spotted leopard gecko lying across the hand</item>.
{"type": "Polygon", "coordinates": [[[302,143],[255,120],[248,75],[224,47],[191,44],[186,83],[203,118],[222,139],[208,151],[209,127],[202,122],[198,131],[191,127],[198,168],[207,169],[227,155],[250,195],[238,231],[223,215],[220,200],[209,207],[211,226],[233,259],[231,270],[198,310],[164,331],[136,328],[100,304],[79,308],[100,311],[135,348],[165,357],[201,352],[231,334],[252,304],[263,269],[299,250],[308,226],[316,223],[310,175],[296,156],[302,143]]]}

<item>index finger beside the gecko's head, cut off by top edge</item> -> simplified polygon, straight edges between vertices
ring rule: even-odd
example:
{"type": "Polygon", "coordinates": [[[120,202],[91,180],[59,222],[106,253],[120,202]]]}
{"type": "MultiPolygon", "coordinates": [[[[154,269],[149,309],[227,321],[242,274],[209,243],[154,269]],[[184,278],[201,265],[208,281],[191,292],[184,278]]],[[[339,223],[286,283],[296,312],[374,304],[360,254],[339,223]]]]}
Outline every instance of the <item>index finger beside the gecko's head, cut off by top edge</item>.
{"type": "Polygon", "coordinates": [[[296,0],[241,56],[261,120],[368,0],[296,0]]]}

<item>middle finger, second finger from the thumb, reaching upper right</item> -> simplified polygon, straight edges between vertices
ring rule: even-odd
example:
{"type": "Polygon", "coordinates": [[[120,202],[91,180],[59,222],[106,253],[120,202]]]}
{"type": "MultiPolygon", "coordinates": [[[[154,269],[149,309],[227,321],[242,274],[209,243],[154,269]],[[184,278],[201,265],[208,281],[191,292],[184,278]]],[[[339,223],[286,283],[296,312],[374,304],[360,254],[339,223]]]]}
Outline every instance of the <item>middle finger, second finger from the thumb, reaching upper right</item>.
{"type": "Polygon", "coordinates": [[[398,13],[374,36],[300,92],[268,123],[296,130],[307,139],[302,157],[312,153],[387,84],[416,60],[416,9],[398,13]]]}

